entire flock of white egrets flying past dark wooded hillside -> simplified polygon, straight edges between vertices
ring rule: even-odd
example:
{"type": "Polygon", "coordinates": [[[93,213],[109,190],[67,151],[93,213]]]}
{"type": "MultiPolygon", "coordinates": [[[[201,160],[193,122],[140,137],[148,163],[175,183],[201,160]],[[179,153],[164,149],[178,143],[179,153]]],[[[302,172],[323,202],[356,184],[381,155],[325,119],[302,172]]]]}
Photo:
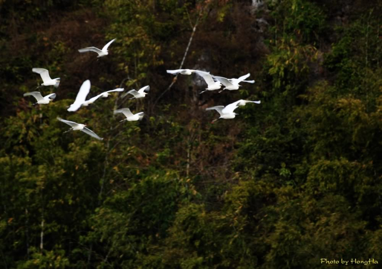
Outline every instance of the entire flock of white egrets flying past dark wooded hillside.
{"type": "MultiPolygon", "coordinates": [[[[93,52],[98,53],[97,58],[104,57],[104,56],[108,55],[107,48],[115,40],[116,39],[113,39],[112,41],[108,42],[102,49],[98,49],[96,47],[86,47],[86,48],[78,49],[78,51],[81,53],[93,51],[93,52]]],[[[59,87],[61,79],[59,77],[53,78],[53,79],[50,78],[48,70],[46,70],[44,68],[33,68],[32,71],[40,74],[40,76],[43,80],[43,83],[41,84],[41,86],[37,87],[36,89],[39,89],[43,86],[54,86],[55,88],[59,87]]],[[[239,78],[225,78],[225,77],[221,77],[221,76],[214,76],[214,75],[211,75],[209,72],[205,72],[205,71],[201,71],[201,70],[192,70],[192,69],[167,70],[167,73],[174,74],[174,75],[177,75],[177,74],[190,75],[192,73],[196,73],[196,74],[200,75],[201,77],[203,77],[203,79],[205,80],[205,82],[207,83],[207,86],[208,86],[201,93],[203,93],[205,91],[219,90],[222,88],[222,86],[224,86],[225,88],[219,92],[222,92],[224,90],[230,90],[230,91],[238,90],[239,87],[241,87],[241,85],[239,85],[239,83],[241,83],[241,82],[255,83],[255,80],[245,80],[246,78],[248,78],[250,76],[249,73],[246,75],[243,75],[239,78]]],[[[88,96],[88,94],[90,92],[90,87],[91,87],[90,80],[85,80],[85,82],[79,88],[78,94],[77,94],[74,102],[70,106],[68,106],[69,112],[75,112],[81,106],[88,106],[89,104],[94,103],[98,98],[106,98],[108,95],[110,95],[111,92],[122,92],[122,91],[124,91],[123,88],[118,88],[115,90],[103,92],[101,94],[96,95],[93,98],[86,100],[86,97],[88,96]]],[[[127,94],[131,94],[131,95],[133,95],[133,97],[131,97],[129,99],[144,98],[147,95],[147,92],[149,90],[150,90],[150,86],[145,86],[145,87],[141,88],[139,91],[130,90],[126,94],[124,94],[123,97],[126,96],[127,94]]],[[[48,94],[44,97],[41,95],[40,92],[37,92],[37,91],[24,94],[24,96],[30,96],[30,95],[35,97],[37,100],[37,102],[34,104],[48,104],[51,100],[56,98],[56,93],[51,93],[51,94],[48,94]]],[[[228,104],[227,106],[223,106],[223,105],[212,106],[212,107],[208,107],[206,110],[216,110],[217,112],[219,112],[220,117],[218,119],[213,120],[212,122],[217,121],[219,119],[233,119],[233,118],[235,118],[236,115],[238,115],[237,113],[234,113],[234,110],[237,109],[237,107],[243,106],[248,102],[257,103],[257,104],[260,103],[260,101],[238,100],[236,102],[228,104]]],[[[128,108],[114,110],[114,114],[119,114],[119,113],[122,113],[126,117],[124,120],[121,120],[121,122],[141,120],[143,118],[143,114],[144,114],[143,112],[133,114],[133,113],[131,113],[131,111],[128,108]]],[[[83,132],[89,134],[89,136],[91,136],[93,138],[96,138],[98,140],[103,140],[103,138],[100,138],[94,131],[88,129],[85,124],[79,124],[79,123],[76,123],[73,121],[64,120],[60,117],[57,117],[57,119],[71,126],[71,128],[65,132],[80,130],[80,131],[83,131],[83,132]]]]}

